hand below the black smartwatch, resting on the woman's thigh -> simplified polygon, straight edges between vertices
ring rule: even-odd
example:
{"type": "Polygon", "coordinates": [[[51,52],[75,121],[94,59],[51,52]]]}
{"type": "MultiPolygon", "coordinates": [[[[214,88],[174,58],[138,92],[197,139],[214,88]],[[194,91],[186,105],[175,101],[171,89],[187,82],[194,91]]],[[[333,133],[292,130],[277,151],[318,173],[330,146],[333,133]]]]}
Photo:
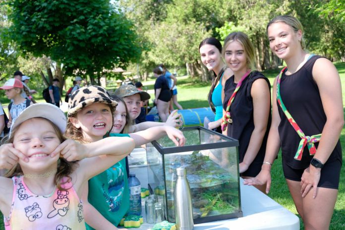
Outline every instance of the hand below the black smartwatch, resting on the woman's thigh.
{"type": "Polygon", "coordinates": [[[321,176],[321,169],[311,166],[304,170],[301,177],[301,194],[305,197],[309,190],[313,188],[313,199],[317,195],[317,185],[321,176]]]}

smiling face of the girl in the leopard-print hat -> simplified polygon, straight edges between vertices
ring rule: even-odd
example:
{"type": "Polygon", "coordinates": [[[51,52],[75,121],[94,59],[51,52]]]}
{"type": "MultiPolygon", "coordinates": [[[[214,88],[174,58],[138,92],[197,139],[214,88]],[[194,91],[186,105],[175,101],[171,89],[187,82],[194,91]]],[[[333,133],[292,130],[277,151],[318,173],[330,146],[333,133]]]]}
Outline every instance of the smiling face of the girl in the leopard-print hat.
{"type": "Polygon", "coordinates": [[[104,103],[93,103],[69,119],[76,128],[82,130],[84,138],[93,142],[101,140],[113,126],[112,112],[109,105],[104,103]]]}

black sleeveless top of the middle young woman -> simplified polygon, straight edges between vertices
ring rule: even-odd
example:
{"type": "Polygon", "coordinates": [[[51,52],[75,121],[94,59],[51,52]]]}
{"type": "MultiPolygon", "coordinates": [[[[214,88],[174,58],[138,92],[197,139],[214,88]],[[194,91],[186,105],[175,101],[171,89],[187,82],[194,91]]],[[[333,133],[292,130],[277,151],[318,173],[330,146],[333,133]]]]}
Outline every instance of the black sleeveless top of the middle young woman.
{"type": "MultiPolygon", "coordinates": [[[[251,134],[254,130],[254,117],[253,117],[253,99],[251,97],[250,91],[252,84],[255,80],[263,78],[267,81],[267,87],[271,92],[271,84],[269,80],[260,72],[252,71],[249,76],[244,79],[242,82],[242,86],[239,88],[231,106],[230,106],[230,114],[232,123],[228,123],[227,128],[227,135],[237,139],[239,142],[238,146],[238,157],[239,163],[243,162],[244,154],[247,151],[249,140],[251,134]]],[[[225,82],[225,98],[223,102],[224,110],[227,109],[228,101],[235,90],[237,84],[233,82],[234,76],[231,76],[225,82]]],[[[270,103],[271,105],[271,103],[270,103]]],[[[265,136],[262,141],[262,145],[258,154],[256,155],[254,162],[263,162],[265,157],[266,151],[266,143],[267,137],[271,126],[271,106],[270,106],[270,114],[267,123],[267,130],[265,136]]]]}

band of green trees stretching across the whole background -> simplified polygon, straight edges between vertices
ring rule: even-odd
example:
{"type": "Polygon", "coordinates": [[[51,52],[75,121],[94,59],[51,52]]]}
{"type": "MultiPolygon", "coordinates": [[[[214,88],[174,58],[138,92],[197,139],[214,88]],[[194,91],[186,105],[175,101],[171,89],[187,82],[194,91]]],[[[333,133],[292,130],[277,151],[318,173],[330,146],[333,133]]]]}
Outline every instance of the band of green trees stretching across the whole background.
{"type": "Polygon", "coordinates": [[[298,17],[307,49],[345,61],[345,3],[340,0],[3,0],[0,7],[0,80],[17,68],[36,84],[81,75],[93,84],[122,67],[146,79],[159,63],[210,74],[198,45],[206,37],[224,41],[233,31],[248,34],[259,70],[278,68],[266,25],[277,15],[298,17]]]}

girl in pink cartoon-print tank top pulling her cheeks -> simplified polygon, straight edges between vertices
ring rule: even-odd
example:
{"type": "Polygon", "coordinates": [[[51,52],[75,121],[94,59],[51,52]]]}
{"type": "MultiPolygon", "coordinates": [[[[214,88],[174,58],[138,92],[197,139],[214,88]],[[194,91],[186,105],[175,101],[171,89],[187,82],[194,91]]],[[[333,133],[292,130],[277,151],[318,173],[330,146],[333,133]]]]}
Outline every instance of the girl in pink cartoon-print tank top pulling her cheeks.
{"type": "Polygon", "coordinates": [[[134,147],[129,138],[121,144],[114,144],[116,138],[86,145],[65,141],[65,127],[63,112],[47,103],[28,107],[12,124],[8,144],[1,146],[0,153],[11,148],[20,152],[16,153],[18,164],[6,174],[11,178],[0,177],[0,210],[6,230],[85,229],[79,199],[82,184],[134,147]],[[104,153],[108,155],[100,156],[104,153]],[[80,161],[71,163],[76,160],[80,161]]]}

